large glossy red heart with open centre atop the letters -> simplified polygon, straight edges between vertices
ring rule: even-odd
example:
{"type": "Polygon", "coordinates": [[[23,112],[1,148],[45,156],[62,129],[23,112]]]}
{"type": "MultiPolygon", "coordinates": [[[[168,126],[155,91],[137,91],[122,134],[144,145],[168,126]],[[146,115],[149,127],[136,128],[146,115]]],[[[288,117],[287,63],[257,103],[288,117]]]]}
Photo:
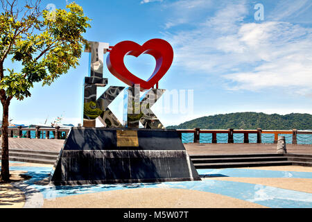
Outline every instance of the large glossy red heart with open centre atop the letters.
{"type": "Polygon", "coordinates": [[[150,89],[153,85],[158,83],[171,67],[172,61],[173,49],[168,42],[161,39],[148,40],[142,46],[132,41],[119,42],[112,47],[112,50],[106,58],[107,68],[114,76],[130,86],[139,84],[141,91],[150,89]],[[155,70],[146,81],[133,75],[123,63],[123,58],[126,55],[138,57],[144,53],[154,56],[156,60],[155,70]]]}

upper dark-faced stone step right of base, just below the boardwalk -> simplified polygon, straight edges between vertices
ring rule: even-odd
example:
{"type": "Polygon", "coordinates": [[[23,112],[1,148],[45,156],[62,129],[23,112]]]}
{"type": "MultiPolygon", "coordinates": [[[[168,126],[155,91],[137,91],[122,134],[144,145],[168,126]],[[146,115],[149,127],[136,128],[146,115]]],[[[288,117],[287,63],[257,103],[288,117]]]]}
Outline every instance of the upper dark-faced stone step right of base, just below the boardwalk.
{"type": "Polygon", "coordinates": [[[274,157],[236,157],[236,158],[191,158],[195,163],[218,163],[218,162],[268,162],[268,161],[286,161],[287,157],[274,156],[274,157]]]}

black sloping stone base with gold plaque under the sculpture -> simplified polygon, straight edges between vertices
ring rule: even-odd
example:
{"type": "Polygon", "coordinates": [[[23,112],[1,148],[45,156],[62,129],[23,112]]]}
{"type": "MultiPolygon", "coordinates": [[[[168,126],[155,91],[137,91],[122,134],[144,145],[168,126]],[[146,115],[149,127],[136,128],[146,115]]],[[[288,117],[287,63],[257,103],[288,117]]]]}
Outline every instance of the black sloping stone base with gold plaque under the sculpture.
{"type": "Polygon", "coordinates": [[[175,130],[71,128],[54,185],[200,180],[175,130]]]}

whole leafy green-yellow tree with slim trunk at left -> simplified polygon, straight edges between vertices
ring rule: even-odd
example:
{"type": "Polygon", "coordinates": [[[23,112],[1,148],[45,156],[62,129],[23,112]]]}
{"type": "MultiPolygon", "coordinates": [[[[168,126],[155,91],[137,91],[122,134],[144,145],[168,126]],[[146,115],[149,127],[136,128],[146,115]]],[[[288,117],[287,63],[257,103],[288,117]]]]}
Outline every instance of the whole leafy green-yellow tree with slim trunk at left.
{"type": "Polygon", "coordinates": [[[40,0],[19,6],[17,0],[1,0],[0,101],[3,107],[1,180],[9,181],[8,111],[11,99],[31,96],[33,83],[51,85],[78,65],[87,41],[90,19],[83,8],[69,3],[67,10],[40,9],[40,0]],[[4,69],[3,62],[21,64],[21,71],[4,69]]]}

